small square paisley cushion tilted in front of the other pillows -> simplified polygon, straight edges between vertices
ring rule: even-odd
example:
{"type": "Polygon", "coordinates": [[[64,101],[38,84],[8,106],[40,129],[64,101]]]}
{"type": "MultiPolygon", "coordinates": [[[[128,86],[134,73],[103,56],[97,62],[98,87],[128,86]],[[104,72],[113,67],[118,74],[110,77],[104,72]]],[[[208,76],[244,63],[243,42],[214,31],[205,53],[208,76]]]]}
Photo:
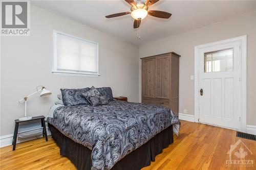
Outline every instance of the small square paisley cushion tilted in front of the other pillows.
{"type": "Polygon", "coordinates": [[[109,99],[106,96],[102,96],[100,92],[93,86],[89,91],[82,93],[82,95],[93,106],[109,104],[109,99]]]}

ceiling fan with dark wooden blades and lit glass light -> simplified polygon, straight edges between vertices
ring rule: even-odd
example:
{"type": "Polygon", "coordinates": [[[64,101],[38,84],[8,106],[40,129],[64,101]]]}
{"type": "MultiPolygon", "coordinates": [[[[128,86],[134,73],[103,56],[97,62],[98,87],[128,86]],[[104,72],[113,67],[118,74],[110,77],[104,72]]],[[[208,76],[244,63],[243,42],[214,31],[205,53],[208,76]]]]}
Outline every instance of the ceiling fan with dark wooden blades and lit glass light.
{"type": "Polygon", "coordinates": [[[147,14],[151,15],[151,16],[158,17],[158,18],[165,18],[165,19],[172,16],[172,14],[170,14],[168,12],[148,10],[149,6],[155,4],[159,0],[146,0],[145,2],[138,0],[137,4],[135,3],[134,0],[124,0],[124,1],[126,1],[127,3],[129,3],[132,6],[131,12],[121,12],[121,13],[116,13],[116,14],[112,14],[112,15],[107,15],[105,17],[113,18],[113,17],[117,17],[117,16],[131,14],[132,17],[135,19],[133,28],[136,29],[136,28],[140,27],[141,20],[144,19],[147,16],[147,14]]]}

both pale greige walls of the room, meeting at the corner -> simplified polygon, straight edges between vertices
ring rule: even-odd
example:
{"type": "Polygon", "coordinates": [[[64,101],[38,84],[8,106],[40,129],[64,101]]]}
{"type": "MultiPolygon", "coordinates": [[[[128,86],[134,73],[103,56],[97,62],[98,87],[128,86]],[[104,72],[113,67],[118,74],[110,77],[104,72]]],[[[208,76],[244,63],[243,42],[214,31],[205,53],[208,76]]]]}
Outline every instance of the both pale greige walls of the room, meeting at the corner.
{"type": "Polygon", "coordinates": [[[247,124],[256,125],[256,11],[140,45],[115,38],[31,6],[31,36],[1,38],[1,130],[0,136],[13,133],[14,119],[24,116],[24,105],[18,104],[37,85],[53,92],[48,98],[39,94],[28,101],[28,115],[48,115],[60,88],[110,86],[115,96],[125,95],[131,102],[141,100],[138,58],[176,52],[180,58],[180,112],[194,114],[194,46],[222,39],[247,37],[247,124]],[[53,30],[99,43],[99,78],[54,76],[53,30]],[[138,74],[139,72],[139,74],[138,74]],[[139,87],[139,89],[138,89],[139,87]]]}

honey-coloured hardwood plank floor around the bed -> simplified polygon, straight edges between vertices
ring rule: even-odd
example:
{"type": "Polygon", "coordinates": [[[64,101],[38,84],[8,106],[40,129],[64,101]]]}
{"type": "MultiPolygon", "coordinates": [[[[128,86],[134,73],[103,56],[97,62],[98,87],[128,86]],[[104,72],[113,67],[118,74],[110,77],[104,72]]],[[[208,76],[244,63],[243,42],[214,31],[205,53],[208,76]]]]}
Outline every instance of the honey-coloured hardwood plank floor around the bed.
{"type": "MultiPolygon", "coordinates": [[[[234,154],[232,160],[238,159],[234,154]]],[[[241,160],[244,160],[241,158],[241,160]]],[[[59,155],[59,148],[52,138],[44,138],[18,143],[0,149],[0,169],[76,169],[66,157],[59,155]]],[[[175,135],[174,143],[156,157],[148,169],[256,169],[256,141],[236,137],[236,131],[181,122],[180,135],[175,135]],[[240,147],[247,152],[246,160],[252,160],[252,167],[227,167],[227,152],[231,144],[241,141],[240,147]]]]}

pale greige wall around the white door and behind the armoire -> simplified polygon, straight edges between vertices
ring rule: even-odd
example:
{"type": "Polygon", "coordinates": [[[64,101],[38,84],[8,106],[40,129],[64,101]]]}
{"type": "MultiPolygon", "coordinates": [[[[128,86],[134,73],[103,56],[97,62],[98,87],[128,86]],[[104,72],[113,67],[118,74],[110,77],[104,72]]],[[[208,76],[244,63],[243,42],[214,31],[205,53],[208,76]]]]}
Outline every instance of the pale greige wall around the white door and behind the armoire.
{"type": "MultiPolygon", "coordinates": [[[[248,35],[247,124],[256,125],[256,11],[180,35],[140,45],[139,57],[142,58],[172,51],[181,55],[179,112],[183,113],[183,110],[187,109],[188,114],[194,114],[194,80],[190,80],[190,75],[194,75],[194,47],[242,35],[248,35]]],[[[139,65],[139,74],[141,75],[141,64],[139,65]]]]}

